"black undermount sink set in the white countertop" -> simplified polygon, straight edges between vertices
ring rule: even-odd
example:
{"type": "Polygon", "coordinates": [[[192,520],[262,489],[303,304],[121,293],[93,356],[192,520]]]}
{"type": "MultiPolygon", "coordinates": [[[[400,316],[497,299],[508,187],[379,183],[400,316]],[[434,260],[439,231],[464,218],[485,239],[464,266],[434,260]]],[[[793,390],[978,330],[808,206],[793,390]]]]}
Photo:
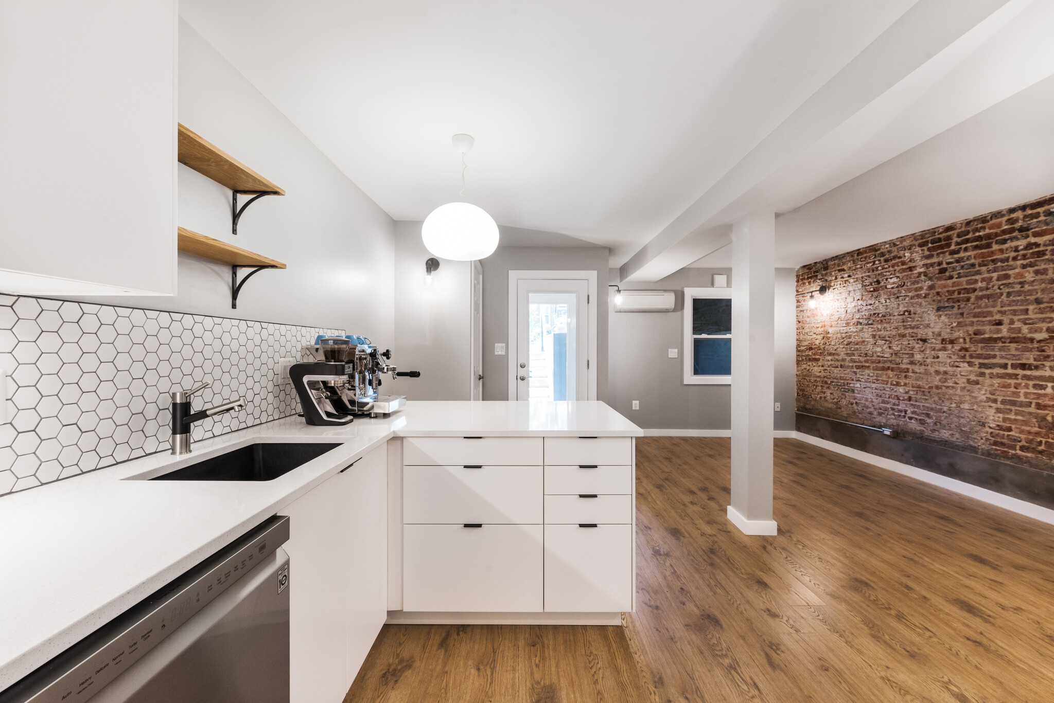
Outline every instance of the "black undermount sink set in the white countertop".
{"type": "Polygon", "coordinates": [[[339,443],[319,442],[258,442],[151,481],[273,481],[339,446],[339,443]]]}

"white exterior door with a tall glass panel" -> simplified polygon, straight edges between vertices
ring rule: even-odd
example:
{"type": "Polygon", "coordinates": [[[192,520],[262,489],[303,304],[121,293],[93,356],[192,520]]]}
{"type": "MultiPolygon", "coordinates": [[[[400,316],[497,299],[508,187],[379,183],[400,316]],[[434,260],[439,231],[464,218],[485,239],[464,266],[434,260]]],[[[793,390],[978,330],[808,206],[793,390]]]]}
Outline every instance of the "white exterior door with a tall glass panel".
{"type": "Polygon", "coordinates": [[[587,295],[585,279],[518,281],[515,399],[588,399],[587,295]]]}

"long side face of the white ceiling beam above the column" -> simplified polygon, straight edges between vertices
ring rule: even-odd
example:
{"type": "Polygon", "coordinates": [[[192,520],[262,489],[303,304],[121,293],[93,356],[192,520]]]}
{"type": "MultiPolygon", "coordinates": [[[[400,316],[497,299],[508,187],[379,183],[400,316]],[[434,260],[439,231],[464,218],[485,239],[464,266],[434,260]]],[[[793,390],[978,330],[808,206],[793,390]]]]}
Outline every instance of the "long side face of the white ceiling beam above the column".
{"type": "Polygon", "coordinates": [[[728,206],[894,90],[1006,4],[1008,0],[919,0],[630,257],[621,268],[621,278],[659,280],[705,255],[691,257],[699,246],[682,241],[701,232],[713,233],[723,223],[716,217],[728,206]]]}

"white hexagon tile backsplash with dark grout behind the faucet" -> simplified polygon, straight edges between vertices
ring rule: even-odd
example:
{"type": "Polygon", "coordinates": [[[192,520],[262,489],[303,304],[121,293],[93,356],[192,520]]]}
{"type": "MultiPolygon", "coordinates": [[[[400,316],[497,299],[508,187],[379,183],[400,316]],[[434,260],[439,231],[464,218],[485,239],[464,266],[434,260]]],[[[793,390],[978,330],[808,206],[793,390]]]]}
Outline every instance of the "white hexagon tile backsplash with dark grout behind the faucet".
{"type": "Polygon", "coordinates": [[[211,383],[195,409],[249,403],[195,440],[299,412],[278,360],[318,334],[344,331],[0,295],[0,495],[168,451],[172,390],[211,383]]]}

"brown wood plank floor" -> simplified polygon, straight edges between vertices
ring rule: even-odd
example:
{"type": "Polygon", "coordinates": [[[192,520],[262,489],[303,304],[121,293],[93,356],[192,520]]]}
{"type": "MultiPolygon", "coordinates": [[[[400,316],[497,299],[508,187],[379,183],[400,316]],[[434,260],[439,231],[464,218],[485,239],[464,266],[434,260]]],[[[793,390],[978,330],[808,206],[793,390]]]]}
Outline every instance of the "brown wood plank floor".
{"type": "Polygon", "coordinates": [[[624,627],[386,626],[345,703],[1054,701],[1054,526],[777,440],[747,538],[728,440],[637,447],[624,627]]]}

